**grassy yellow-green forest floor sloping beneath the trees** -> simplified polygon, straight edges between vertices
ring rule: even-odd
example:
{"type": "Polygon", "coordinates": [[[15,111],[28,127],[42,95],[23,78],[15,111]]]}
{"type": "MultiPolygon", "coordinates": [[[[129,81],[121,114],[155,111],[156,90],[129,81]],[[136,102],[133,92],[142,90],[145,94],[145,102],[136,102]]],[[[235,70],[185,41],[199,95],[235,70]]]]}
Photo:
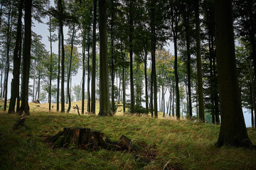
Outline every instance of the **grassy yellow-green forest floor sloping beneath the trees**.
{"type": "MultiPolygon", "coordinates": [[[[30,103],[26,128],[18,130],[12,125],[19,115],[0,112],[0,169],[256,169],[256,150],[214,146],[219,125],[127,114],[78,116],[36,105],[30,103]],[[129,152],[52,149],[46,138],[65,127],[100,130],[115,141],[125,135],[135,145],[145,146],[149,162],[129,152]]],[[[247,132],[256,145],[256,130],[247,132]]]]}

